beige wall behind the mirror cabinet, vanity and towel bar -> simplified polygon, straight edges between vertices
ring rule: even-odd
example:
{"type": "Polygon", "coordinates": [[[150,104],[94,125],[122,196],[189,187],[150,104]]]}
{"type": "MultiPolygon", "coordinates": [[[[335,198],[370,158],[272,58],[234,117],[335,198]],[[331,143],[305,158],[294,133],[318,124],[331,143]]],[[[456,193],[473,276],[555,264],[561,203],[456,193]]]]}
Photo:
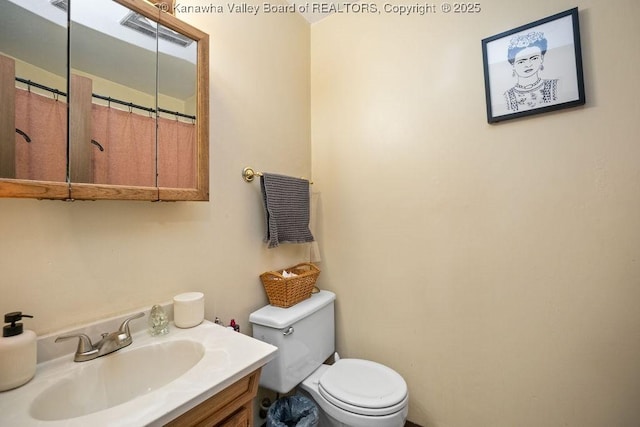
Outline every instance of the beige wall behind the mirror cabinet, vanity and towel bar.
{"type": "Polygon", "coordinates": [[[211,201],[0,199],[0,313],[38,333],[206,295],[206,316],[247,332],[267,302],[259,274],[304,260],[262,243],[259,184],[245,166],[310,175],[309,26],[293,15],[191,14],[211,37],[211,201]]]}

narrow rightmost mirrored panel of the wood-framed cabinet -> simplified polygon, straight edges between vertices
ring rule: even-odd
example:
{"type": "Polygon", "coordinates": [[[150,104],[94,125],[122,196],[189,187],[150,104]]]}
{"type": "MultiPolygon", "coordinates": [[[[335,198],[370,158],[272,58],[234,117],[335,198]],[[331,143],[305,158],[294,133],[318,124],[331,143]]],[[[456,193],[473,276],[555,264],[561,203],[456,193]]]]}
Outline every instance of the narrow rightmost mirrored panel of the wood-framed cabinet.
{"type": "Polygon", "coordinates": [[[158,186],[196,188],[198,43],[158,27],[158,186]]]}

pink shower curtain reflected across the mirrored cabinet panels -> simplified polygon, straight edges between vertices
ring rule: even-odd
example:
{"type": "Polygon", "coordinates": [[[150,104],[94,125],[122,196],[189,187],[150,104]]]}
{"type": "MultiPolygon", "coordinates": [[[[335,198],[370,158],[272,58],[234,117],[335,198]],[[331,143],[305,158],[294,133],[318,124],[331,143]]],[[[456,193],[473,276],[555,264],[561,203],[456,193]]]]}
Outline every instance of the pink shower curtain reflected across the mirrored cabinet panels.
{"type": "MultiPolygon", "coordinates": [[[[195,188],[195,124],[92,104],[93,183],[195,188]],[[157,172],[157,173],[156,173],[157,172]],[[157,178],[157,182],[156,182],[157,178]]],[[[65,182],[67,104],[16,88],[16,178],[65,182]]],[[[88,141],[87,141],[88,143],[88,141]]]]}

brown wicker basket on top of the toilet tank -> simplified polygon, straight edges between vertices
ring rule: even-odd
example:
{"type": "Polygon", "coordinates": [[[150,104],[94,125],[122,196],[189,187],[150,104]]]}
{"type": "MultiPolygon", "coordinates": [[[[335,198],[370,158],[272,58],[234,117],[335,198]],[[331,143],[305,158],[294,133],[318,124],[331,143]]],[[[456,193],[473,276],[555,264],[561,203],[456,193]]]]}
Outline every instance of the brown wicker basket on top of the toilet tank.
{"type": "Polygon", "coordinates": [[[309,262],[303,262],[285,270],[297,276],[284,277],[278,272],[267,271],[260,275],[260,279],[269,297],[269,304],[288,308],[311,296],[320,269],[309,262]]]}

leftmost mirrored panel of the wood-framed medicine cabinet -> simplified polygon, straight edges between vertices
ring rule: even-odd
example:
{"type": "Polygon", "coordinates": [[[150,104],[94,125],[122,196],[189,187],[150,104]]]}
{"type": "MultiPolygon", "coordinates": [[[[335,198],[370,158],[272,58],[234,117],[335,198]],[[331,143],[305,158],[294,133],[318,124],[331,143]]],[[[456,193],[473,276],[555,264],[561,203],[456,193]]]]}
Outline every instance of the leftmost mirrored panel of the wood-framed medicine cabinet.
{"type": "Polygon", "coordinates": [[[67,16],[0,0],[0,178],[67,181],[67,16]]]}

